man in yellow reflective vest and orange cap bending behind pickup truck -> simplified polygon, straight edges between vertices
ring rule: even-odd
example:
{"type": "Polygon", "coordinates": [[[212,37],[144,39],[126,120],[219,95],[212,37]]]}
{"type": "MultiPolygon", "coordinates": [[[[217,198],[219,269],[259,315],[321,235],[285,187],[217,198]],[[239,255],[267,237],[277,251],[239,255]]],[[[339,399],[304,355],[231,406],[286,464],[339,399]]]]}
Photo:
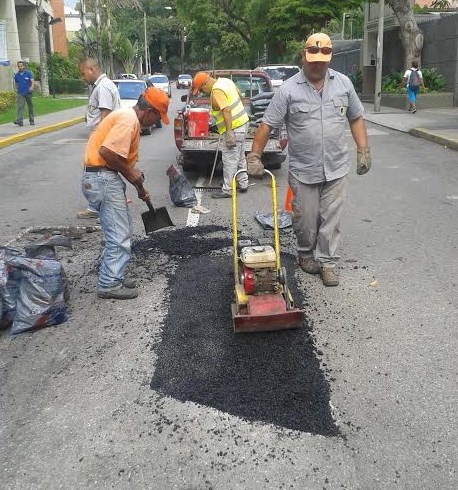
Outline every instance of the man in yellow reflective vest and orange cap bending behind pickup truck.
{"type": "MultiPolygon", "coordinates": [[[[245,139],[248,131],[248,114],[240,99],[235,83],[229,78],[212,78],[208,73],[196,73],[192,82],[192,94],[198,92],[210,95],[211,114],[215,118],[220,138],[223,140],[221,156],[223,160],[223,187],[213,192],[213,199],[231,197],[232,178],[237,170],[246,170],[245,139]]],[[[248,175],[237,176],[240,192],[248,190],[248,175]]]]}

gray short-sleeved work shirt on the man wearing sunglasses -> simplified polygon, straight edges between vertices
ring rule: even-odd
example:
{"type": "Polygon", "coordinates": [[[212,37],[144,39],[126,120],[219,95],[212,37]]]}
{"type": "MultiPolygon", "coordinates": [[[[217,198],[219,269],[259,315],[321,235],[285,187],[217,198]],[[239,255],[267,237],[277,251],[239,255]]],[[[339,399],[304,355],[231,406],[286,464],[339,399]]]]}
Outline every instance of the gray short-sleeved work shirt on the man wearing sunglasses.
{"type": "Polygon", "coordinates": [[[363,111],[347,76],[328,68],[320,94],[301,70],[278,89],[262,120],[274,128],[286,124],[289,171],[304,184],[316,184],[347,175],[345,122],[363,111]]]}

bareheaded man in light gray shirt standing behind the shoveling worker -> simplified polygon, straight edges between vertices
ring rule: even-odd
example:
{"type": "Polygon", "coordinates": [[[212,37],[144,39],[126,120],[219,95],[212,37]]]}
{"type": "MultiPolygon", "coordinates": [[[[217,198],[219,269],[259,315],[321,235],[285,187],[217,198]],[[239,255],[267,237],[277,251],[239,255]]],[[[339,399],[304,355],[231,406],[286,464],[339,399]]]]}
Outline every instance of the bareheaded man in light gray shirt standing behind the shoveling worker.
{"type": "MultiPolygon", "coordinates": [[[[89,132],[103,121],[108,114],[121,107],[121,98],[118,87],[102,73],[98,61],[94,58],[85,58],[78,65],[82,79],[91,85],[91,94],[86,109],[86,128],[89,132]]],[[[99,214],[90,206],[78,211],[78,218],[97,218],[99,214]]]]}

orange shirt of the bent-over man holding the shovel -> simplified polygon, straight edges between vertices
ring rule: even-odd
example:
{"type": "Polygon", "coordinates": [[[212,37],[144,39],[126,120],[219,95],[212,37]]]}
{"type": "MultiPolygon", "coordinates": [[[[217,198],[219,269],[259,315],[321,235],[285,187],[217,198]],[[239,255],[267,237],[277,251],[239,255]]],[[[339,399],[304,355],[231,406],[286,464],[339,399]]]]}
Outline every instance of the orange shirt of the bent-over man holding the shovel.
{"type": "Polygon", "coordinates": [[[101,157],[102,146],[126,159],[126,167],[132,168],[138,161],[140,122],[132,108],[110,112],[89,136],[84,152],[84,165],[105,167],[101,157]]]}

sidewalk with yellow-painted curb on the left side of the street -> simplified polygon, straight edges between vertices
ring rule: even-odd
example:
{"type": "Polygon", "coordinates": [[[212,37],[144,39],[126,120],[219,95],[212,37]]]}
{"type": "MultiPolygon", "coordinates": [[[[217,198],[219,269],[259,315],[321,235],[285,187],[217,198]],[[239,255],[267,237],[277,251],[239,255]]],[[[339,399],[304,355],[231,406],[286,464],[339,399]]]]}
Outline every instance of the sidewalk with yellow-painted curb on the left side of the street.
{"type": "Polygon", "coordinates": [[[45,116],[35,116],[35,126],[30,126],[27,118],[24,119],[24,126],[16,126],[12,121],[8,124],[0,124],[0,148],[82,123],[85,112],[86,106],[83,105],[45,116]]]}

